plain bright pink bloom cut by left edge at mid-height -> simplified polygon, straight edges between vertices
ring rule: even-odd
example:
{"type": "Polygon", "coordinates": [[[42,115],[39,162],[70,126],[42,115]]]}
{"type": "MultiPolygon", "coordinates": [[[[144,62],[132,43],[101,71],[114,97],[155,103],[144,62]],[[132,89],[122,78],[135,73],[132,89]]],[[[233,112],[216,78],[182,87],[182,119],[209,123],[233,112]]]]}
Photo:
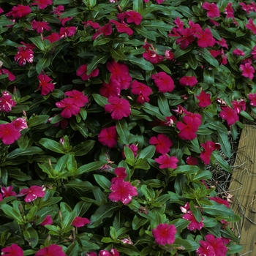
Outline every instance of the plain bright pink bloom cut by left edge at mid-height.
{"type": "Polygon", "coordinates": [[[0,124],[0,138],[4,145],[11,145],[20,138],[20,132],[13,124],[0,124]]]}

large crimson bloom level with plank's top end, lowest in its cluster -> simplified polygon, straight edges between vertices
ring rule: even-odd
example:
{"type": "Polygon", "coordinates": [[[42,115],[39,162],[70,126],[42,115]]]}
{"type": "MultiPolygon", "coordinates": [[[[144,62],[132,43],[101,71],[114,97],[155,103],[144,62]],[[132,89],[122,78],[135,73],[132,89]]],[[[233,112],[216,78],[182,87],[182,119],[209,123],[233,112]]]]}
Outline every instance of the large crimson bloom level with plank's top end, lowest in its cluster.
{"type": "Polygon", "coordinates": [[[184,116],[183,122],[177,121],[176,127],[180,130],[178,137],[182,140],[194,140],[197,135],[198,125],[190,116],[184,116]]]}

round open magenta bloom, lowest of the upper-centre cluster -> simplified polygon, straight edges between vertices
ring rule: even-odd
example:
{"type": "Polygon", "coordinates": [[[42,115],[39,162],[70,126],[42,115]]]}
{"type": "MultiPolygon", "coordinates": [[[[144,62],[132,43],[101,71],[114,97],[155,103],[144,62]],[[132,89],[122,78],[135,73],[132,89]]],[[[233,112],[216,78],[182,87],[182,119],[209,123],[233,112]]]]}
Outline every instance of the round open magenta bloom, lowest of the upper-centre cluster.
{"type": "Polygon", "coordinates": [[[120,99],[118,97],[109,97],[108,103],[105,105],[105,111],[111,113],[114,120],[121,120],[123,117],[129,116],[131,108],[127,99],[120,99]]]}

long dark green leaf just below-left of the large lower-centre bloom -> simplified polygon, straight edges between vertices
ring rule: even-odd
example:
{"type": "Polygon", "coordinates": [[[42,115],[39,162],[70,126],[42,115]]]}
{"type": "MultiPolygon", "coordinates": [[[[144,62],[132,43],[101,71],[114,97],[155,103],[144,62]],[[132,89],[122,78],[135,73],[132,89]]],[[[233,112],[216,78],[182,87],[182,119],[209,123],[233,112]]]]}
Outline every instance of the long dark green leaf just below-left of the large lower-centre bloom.
{"type": "Polygon", "coordinates": [[[99,206],[94,214],[91,215],[89,228],[98,227],[102,224],[105,218],[110,218],[113,216],[114,212],[119,208],[116,203],[108,202],[99,206]]]}

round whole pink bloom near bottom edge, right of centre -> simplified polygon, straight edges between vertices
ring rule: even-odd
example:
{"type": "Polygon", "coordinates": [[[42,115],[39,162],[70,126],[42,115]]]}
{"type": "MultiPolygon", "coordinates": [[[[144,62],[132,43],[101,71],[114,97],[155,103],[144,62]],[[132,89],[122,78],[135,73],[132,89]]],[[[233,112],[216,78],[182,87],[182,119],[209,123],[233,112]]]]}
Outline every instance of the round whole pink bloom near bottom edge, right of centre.
{"type": "Polygon", "coordinates": [[[152,230],[152,234],[157,244],[165,246],[165,244],[173,244],[177,233],[175,225],[167,225],[162,223],[152,230]]]}

